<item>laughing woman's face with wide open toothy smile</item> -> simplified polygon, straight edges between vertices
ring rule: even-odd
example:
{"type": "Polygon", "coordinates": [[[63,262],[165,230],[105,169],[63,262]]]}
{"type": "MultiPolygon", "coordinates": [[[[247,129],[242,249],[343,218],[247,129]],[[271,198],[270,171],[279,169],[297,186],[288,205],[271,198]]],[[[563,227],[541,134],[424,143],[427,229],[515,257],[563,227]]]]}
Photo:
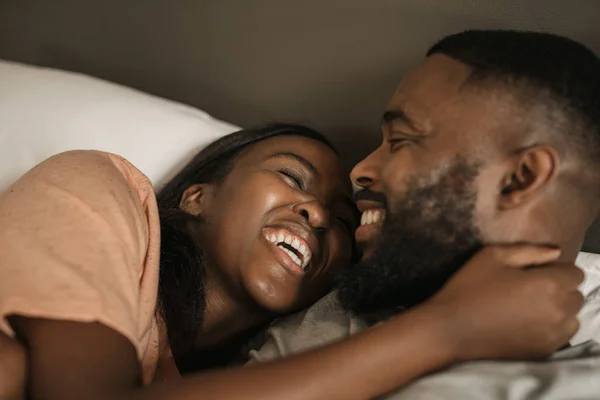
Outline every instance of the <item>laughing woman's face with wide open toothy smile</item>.
{"type": "Polygon", "coordinates": [[[351,196],[348,175],[325,144],[301,136],[259,142],[203,207],[209,263],[227,287],[270,312],[308,306],[351,262],[351,196]]]}

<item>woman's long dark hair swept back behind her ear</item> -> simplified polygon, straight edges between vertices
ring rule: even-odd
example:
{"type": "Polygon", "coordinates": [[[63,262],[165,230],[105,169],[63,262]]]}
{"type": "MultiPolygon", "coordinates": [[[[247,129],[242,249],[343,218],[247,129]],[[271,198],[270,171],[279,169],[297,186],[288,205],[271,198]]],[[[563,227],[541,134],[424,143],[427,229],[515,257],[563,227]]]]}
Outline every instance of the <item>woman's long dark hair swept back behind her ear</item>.
{"type": "MultiPolygon", "coordinates": [[[[280,123],[243,129],[200,151],[157,195],[161,227],[158,304],[173,356],[182,372],[196,364],[194,343],[203,323],[206,293],[204,252],[198,235],[202,220],[180,209],[181,198],[192,185],[221,183],[244,150],[276,136],[307,137],[335,151],[324,136],[300,125],[280,123]]],[[[220,364],[217,353],[207,358],[213,360],[205,358],[205,366],[220,364]]]]}

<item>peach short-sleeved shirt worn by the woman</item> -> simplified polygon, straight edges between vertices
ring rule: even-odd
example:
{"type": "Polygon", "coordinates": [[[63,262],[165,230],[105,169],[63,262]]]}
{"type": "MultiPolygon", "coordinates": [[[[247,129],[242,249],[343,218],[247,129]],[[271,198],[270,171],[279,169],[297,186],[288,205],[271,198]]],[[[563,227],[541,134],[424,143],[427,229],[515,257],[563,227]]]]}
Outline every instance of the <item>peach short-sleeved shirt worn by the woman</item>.
{"type": "MultiPolygon", "coordinates": [[[[160,227],[149,179],[98,151],[51,157],[0,193],[0,330],[19,314],[99,322],[159,358],[160,227]]],[[[168,345],[167,345],[168,347],[168,345]]]]}

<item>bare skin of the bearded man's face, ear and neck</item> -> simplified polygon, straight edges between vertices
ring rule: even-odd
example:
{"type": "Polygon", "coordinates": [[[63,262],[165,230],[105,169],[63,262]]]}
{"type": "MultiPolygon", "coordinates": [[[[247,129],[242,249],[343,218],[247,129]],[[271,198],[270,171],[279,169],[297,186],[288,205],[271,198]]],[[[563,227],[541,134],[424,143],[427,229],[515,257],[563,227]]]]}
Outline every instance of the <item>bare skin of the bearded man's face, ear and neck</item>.
{"type": "Polygon", "coordinates": [[[428,176],[457,157],[476,161],[475,225],[485,242],[554,244],[563,260],[573,260],[598,207],[581,196],[569,218],[555,216],[577,193],[566,182],[580,180],[585,166],[562,157],[544,134],[550,128],[539,110],[501,84],[467,82],[470,74],[467,65],[439,54],[410,73],[387,106],[381,146],[353,169],[353,181],[384,193],[394,213],[409,175],[428,176]]]}

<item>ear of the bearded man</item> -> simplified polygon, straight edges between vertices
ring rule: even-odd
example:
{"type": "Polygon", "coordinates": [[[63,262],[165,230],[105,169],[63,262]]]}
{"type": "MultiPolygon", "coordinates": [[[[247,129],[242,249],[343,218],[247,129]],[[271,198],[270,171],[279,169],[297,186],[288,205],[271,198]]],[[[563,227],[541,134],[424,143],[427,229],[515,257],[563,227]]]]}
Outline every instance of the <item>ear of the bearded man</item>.
{"type": "Polygon", "coordinates": [[[501,183],[500,208],[518,207],[539,195],[558,175],[559,163],[558,152],[548,145],[528,147],[511,157],[501,183]]]}

